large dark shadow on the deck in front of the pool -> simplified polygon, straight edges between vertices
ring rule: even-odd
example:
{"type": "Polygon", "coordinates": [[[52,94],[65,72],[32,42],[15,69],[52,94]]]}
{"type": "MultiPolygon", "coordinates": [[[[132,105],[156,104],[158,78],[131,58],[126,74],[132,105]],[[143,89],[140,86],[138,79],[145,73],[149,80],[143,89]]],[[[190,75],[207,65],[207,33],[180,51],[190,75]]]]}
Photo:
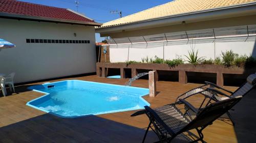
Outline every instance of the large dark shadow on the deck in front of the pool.
{"type": "MultiPolygon", "coordinates": [[[[144,129],[121,124],[97,116],[73,119],[41,115],[0,128],[2,142],[141,142],[144,129]]],[[[178,136],[174,142],[188,142],[189,135],[178,136]]],[[[146,142],[157,141],[150,131],[146,142]]]]}

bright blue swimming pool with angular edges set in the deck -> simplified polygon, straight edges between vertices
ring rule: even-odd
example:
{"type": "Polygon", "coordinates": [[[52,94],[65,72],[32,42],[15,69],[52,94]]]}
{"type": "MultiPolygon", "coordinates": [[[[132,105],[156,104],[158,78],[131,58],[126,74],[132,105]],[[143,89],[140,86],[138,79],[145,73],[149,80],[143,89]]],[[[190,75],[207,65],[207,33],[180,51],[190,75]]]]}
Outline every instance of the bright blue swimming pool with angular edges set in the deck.
{"type": "Polygon", "coordinates": [[[82,80],[65,80],[33,85],[30,90],[45,93],[28,106],[63,118],[142,109],[148,89],[82,80]]]}

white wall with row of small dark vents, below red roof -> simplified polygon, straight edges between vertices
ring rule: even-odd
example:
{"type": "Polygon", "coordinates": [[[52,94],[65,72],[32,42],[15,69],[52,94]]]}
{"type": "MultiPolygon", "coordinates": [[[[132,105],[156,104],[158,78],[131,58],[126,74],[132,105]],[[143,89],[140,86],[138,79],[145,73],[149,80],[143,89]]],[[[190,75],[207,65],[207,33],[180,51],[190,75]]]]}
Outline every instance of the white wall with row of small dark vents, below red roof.
{"type": "Polygon", "coordinates": [[[16,83],[96,71],[93,26],[0,18],[0,38],[16,45],[0,51],[0,73],[15,72],[16,83]],[[27,38],[90,40],[90,44],[26,43],[27,38]]]}

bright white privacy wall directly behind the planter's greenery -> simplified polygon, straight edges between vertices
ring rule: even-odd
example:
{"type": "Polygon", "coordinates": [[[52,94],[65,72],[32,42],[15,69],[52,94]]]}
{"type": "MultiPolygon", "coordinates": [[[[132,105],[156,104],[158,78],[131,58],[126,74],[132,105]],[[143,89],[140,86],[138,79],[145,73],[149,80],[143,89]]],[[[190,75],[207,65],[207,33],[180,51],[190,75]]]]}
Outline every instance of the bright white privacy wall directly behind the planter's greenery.
{"type": "MultiPolygon", "coordinates": [[[[165,43],[166,44],[166,43],[165,43]]],[[[110,61],[111,62],[125,62],[128,58],[128,45],[126,46],[111,46],[110,48],[110,61]]],[[[154,58],[157,55],[159,58],[165,60],[175,59],[177,56],[181,56],[184,60],[187,60],[184,55],[188,55],[188,50],[191,48],[197,50],[199,56],[205,56],[205,59],[215,59],[217,56],[221,56],[222,51],[232,49],[233,52],[239,54],[253,54],[256,56],[256,46],[255,41],[246,42],[216,42],[216,43],[188,43],[183,45],[165,45],[163,52],[163,44],[154,45],[146,48],[144,46],[133,44],[129,48],[129,61],[141,61],[141,58],[154,58]],[[154,48],[153,48],[154,47],[154,48]],[[254,48],[254,52],[253,52],[254,48]]]]}

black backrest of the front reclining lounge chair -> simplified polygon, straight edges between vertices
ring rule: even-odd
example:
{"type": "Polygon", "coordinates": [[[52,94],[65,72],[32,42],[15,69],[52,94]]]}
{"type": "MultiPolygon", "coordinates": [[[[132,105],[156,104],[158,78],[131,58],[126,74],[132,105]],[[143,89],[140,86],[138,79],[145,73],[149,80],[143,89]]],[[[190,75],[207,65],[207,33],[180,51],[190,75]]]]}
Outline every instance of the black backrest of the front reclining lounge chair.
{"type": "Polygon", "coordinates": [[[184,127],[180,132],[210,125],[216,119],[220,118],[224,113],[230,110],[234,105],[236,105],[241,99],[242,96],[237,96],[206,106],[205,108],[199,110],[196,118],[187,124],[186,127],[184,127]]]}

